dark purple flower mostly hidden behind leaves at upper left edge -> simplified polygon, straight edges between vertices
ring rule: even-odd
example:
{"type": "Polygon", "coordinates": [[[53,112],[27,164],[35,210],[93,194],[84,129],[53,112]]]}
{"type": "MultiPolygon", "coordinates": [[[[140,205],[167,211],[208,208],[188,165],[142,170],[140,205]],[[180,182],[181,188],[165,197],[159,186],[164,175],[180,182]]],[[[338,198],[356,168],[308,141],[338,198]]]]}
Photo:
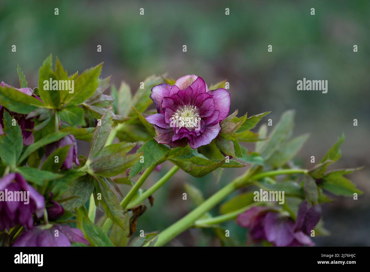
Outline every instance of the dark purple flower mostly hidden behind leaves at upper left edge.
{"type": "MultiPolygon", "coordinates": [[[[14,88],[14,87],[11,87],[10,85],[4,83],[3,81],[1,82],[1,87],[9,87],[9,88],[13,88],[15,90],[18,90],[24,94],[27,94],[27,95],[32,95],[36,98],[38,98],[36,95],[33,94],[33,91],[31,88],[14,88]]],[[[38,98],[40,100],[40,98],[38,98]]],[[[4,123],[3,123],[3,114],[4,114],[4,107],[0,105],[0,135],[3,135],[4,134],[4,131],[3,131],[3,127],[4,127],[4,123]]],[[[26,116],[25,114],[18,114],[18,113],[13,113],[11,111],[9,111],[10,115],[13,116],[21,130],[22,130],[22,136],[23,136],[23,144],[24,145],[30,145],[30,144],[33,144],[34,142],[34,138],[33,138],[33,134],[32,134],[32,129],[33,129],[33,126],[34,126],[34,122],[32,122],[31,120],[29,119],[26,119],[26,116]]]]}

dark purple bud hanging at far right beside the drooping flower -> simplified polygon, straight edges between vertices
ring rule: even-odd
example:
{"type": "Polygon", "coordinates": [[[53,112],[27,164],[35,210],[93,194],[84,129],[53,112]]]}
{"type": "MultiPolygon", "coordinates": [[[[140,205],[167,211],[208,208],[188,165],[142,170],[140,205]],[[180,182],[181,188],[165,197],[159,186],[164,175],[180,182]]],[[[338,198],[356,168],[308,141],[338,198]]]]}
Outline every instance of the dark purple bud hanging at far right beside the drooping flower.
{"type": "Polygon", "coordinates": [[[307,201],[303,201],[299,205],[295,231],[302,231],[305,234],[310,235],[320,218],[321,207],[319,205],[312,205],[310,207],[307,201]]]}

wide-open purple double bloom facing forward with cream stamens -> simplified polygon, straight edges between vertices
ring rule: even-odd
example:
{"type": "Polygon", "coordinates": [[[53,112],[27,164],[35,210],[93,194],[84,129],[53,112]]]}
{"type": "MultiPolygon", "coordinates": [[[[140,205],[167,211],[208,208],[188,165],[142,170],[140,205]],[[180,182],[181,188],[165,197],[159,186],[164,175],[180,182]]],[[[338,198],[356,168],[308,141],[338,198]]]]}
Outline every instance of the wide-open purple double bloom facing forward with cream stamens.
{"type": "Polygon", "coordinates": [[[154,139],[171,148],[189,144],[195,149],[211,143],[230,111],[229,92],[223,88],[209,91],[196,75],[181,77],[172,86],[154,86],[150,97],[158,112],[147,117],[156,131],[154,139]]]}

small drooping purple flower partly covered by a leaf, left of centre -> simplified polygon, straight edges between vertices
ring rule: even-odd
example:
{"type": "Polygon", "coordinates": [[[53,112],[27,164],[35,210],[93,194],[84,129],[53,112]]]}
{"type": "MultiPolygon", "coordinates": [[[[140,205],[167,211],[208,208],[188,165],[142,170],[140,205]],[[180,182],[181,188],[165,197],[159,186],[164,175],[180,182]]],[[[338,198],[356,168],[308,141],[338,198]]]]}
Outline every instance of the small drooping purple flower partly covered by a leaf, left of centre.
{"type": "Polygon", "coordinates": [[[64,147],[65,145],[70,145],[71,147],[68,150],[67,157],[65,158],[62,167],[64,167],[65,169],[71,169],[72,168],[72,162],[74,162],[77,165],[80,165],[80,162],[77,159],[77,142],[76,142],[76,139],[74,138],[74,136],[72,134],[61,138],[57,142],[53,142],[51,144],[46,145],[45,146],[46,156],[49,156],[57,148],[64,147]]]}

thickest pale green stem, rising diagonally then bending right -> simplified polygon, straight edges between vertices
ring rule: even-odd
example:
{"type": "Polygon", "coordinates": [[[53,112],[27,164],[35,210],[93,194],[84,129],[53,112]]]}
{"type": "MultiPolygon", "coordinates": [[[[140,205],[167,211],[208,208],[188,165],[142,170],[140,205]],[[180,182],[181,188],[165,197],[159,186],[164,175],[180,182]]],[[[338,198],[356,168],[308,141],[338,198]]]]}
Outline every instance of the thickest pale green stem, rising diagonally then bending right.
{"type": "Polygon", "coordinates": [[[167,244],[169,241],[174,239],[177,235],[181,232],[185,231],[186,229],[190,228],[194,222],[200,218],[203,214],[208,212],[214,206],[216,206],[219,202],[221,202],[224,198],[226,198],[229,194],[231,194],[236,189],[247,185],[250,180],[258,180],[264,177],[271,177],[276,175],[284,175],[284,174],[306,174],[306,169],[281,169],[275,171],[267,171],[258,174],[254,174],[260,168],[255,168],[251,170],[251,168],[245,172],[240,177],[235,178],[231,183],[220,189],[218,192],[213,194],[210,198],[204,201],[201,205],[195,208],[192,212],[188,215],[184,216],[182,219],[177,221],[175,224],[169,226],[164,231],[159,233],[158,240],[154,246],[163,246],[167,244]]]}

